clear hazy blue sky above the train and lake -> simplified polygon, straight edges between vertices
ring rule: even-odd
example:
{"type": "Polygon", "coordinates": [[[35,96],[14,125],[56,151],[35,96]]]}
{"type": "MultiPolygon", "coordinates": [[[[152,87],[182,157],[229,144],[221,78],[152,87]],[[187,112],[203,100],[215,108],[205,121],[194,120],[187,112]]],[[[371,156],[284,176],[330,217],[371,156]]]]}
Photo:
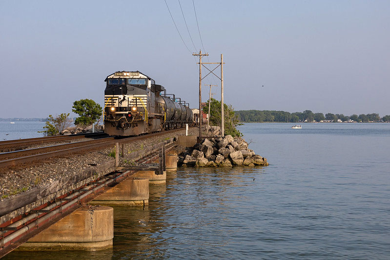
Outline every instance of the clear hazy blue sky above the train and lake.
{"type": "MultiPolygon", "coordinates": [[[[123,70],[196,108],[200,49],[204,62],[224,55],[235,110],[390,115],[389,0],[194,0],[200,33],[192,0],[180,1],[189,33],[179,1],[166,2],[185,43],[164,0],[0,1],[0,118],[103,106],[104,79],[123,70]]],[[[202,84],[220,99],[220,80],[202,84]]]]}

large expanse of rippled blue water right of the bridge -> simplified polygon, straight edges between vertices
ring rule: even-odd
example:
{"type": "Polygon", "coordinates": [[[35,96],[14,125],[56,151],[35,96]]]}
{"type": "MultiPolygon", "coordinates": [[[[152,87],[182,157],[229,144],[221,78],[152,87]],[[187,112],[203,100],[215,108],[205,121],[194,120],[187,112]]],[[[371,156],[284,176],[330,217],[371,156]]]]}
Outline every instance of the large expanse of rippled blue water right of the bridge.
{"type": "Polygon", "coordinates": [[[240,126],[268,167],[180,169],[115,207],[113,249],[7,259],[389,259],[390,124],[291,125],[240,126]]]}

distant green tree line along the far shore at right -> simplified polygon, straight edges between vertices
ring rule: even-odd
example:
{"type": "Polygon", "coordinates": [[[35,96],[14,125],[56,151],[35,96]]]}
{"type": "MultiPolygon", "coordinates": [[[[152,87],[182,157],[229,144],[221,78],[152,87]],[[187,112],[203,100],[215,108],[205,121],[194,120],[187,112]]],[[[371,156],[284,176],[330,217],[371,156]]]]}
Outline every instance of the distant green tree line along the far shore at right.
{"type": "Polygon", "coordinates": [[[286,111],[274,111],[274,110],[239,110],[234,111],[240,122],[390,122],[390,115],[379,117],[379,114],[360,114],[345,116],[343,114],[332,113],[313,113],[310,110],[303,112],[286,112],[286,111]]]}

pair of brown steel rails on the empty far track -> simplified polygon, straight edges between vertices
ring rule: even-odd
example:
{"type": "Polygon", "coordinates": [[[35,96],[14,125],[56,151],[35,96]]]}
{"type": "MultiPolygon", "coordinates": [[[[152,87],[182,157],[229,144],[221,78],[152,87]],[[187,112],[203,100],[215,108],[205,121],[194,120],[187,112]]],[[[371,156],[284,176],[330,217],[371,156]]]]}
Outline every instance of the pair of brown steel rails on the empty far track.
{"type": "Polygon", "coordinates": [[[76,135],[68,135],[68,136],[49,136],[49,137],[37,137],[37,138],[28,138],[28,139],[19,139],[19,140],[6,140],[0,141],[0,150],[2,148],[7,147],[21,147],[28,146],[33,144],[43,144],[46,142],[53,141],[63,141],[63,140],[72,140],[72,139],[80,139],[92,136],[103,136],[105,133],[85,133],[85,134],[76,134],[76,135]],[[18,146],[19,145],[19,146],[18,146]]]}

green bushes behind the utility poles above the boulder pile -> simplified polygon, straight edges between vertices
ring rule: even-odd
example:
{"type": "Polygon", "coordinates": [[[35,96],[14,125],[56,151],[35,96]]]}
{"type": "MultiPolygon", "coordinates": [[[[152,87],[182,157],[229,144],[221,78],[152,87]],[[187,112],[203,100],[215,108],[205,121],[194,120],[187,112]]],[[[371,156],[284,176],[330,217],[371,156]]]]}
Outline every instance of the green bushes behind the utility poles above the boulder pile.
{"type": "MultiPolygon", "coordinates": [[[[208,102],[203,107],[203,112],[208,114],[208,102]]],[[[221,101],[216,99],[210,100],[210,115],[209,122],[211,125],[221,126],[221,101]]],[[[224,119],[225,119],[225,135],[231,136],[242,136],[241,132],[236,129],[236,126],[239,125],[239,119],[234,113],[234,109],[231,105],[224,103],[224,119]]]]}

